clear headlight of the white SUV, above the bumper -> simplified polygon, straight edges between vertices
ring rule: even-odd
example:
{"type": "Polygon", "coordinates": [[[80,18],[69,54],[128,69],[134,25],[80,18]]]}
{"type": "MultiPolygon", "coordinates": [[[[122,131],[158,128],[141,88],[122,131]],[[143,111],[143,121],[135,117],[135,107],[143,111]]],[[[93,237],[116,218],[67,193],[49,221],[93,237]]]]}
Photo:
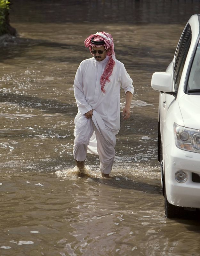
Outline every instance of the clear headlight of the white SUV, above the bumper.
{"type": "Polygon", "coordinates": [[[200,130],[182,127],[174,123],[174,136],[178,148],[200,153],[200,130]]]}

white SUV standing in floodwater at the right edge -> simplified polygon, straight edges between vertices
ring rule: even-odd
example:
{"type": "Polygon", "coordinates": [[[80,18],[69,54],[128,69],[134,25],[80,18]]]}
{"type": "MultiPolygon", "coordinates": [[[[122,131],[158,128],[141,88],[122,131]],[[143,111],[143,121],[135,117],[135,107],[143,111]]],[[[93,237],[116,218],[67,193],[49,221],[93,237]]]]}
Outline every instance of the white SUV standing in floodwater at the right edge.
{"type": "Polygon", "coordinates": [[[166,72],[152,75],[160,92],[158,160],[167,218],[200,208],[200,15],[193,15],[166,72]]]}

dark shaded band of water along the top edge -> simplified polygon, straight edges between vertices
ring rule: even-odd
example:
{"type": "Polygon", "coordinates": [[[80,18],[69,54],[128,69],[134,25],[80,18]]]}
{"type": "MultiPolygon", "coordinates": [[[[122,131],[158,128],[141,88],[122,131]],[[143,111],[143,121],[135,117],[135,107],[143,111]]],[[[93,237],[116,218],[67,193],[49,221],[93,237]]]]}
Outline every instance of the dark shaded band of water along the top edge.
{"type": "Polygon", "coordinates": [[[98,22],[181,24],[189,16],[199,13],[199,0],[15,0],[16,22],[98,22]],[[25,12],[24,12],[25,10],[25,12]],[[45,10],[45,14],[43,13],[45,10]]]}

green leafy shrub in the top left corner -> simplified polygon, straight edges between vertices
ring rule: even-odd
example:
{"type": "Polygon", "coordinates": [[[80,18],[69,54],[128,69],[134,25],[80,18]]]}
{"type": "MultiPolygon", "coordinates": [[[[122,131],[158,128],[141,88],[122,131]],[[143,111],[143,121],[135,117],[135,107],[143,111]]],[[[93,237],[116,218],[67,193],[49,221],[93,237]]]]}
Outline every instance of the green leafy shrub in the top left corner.
{"type": "Polygon", "coordinates": [[[7,33],[6,17],[8,15],[10,2],[0,0],[0,36],[7,33]]]}

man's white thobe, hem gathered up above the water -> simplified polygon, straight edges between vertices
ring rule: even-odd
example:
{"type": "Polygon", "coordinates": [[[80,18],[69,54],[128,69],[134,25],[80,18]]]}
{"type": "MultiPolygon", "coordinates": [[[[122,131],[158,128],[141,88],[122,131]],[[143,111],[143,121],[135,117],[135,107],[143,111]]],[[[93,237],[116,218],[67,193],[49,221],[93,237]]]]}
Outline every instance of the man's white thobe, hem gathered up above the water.
{"type": "Polygon", "coordinates": [[[110,173],[115,156],[115,135],[120,130],[120,87],[133,94],[132,79],[124,64],[116,60],[106,93],[103,95],[100,77],[108,63],[108,56],[97,61],[93,57],[81,62],[74,80],[74,95],[78,107],[75,117],[74,158],[84,161],[86,151],[99,155],[101,171],[110,173]],[[92,118],[85,113],[93,109],[92,118]]]}

